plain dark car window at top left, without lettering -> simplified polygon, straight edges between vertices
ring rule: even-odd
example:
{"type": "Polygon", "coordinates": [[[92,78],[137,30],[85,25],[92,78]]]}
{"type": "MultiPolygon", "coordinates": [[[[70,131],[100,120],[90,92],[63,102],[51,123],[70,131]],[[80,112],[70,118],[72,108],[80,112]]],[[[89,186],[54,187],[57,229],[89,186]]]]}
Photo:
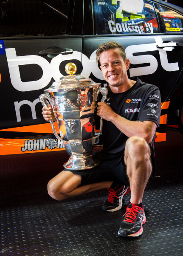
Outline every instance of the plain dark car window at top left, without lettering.
{"type": "Polygon", "coordinates": [[[70,0],[0,1],[0,37],[65,35],[70,0]]]}

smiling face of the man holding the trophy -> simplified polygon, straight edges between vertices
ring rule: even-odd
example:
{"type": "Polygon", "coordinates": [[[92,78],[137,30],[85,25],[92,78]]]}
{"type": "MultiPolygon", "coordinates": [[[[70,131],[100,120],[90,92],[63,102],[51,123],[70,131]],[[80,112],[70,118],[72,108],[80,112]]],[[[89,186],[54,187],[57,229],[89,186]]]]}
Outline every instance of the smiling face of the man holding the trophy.
{"type": "Polygon", "coordinates": [[[104,79],[112,87],[123,86],[127,81],[127,70],[130,61],[125,62],[120,55],[120,49],[110,49],[100,54],[101,71],[104,79]]]}

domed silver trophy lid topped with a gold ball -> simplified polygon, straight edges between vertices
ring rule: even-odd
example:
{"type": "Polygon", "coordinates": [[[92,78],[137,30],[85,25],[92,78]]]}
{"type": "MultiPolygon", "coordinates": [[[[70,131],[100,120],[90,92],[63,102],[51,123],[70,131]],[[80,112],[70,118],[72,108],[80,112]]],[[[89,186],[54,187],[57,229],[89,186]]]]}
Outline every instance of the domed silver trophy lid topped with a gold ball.
{"type": "Polygon", "coordinates": [[[86,78],[81,75],[74,75],[76,73],[76,65],[69,62],[65,66],[65,71],[68,73],[68,76],[61,77],[58,81],[53,82],[51,87],[44,90],[45,92],[58,92],[62,90],[77,90],[88,87],[99,87],[100,84],[94,83],[91,79],[86,78]]]}

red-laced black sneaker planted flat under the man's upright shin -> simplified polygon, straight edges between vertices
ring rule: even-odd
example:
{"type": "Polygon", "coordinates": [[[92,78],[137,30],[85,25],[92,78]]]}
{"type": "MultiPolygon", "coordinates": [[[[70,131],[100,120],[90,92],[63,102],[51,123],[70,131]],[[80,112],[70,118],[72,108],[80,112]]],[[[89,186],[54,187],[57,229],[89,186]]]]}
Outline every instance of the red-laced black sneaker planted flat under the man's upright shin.
{"type": "Polygon", "coordinates": [[[119,236],[138,237],[143,233],[142,225],[146,222],[144,207],[130,203],[119,227],[119,236]]]}

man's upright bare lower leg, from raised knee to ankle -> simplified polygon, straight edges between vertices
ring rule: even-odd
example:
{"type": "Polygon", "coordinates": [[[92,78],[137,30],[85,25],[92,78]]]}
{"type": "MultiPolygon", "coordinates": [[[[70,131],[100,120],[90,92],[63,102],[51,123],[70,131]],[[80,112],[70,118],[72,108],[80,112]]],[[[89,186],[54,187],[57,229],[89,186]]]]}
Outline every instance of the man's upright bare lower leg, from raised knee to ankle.
{"type": "Polygon", "coordinates": [[[140,204],[152,171],[150,148],[143,138],[134,136],[127,140],[124,161],[130,180],[130,202],[140,204]]]}

